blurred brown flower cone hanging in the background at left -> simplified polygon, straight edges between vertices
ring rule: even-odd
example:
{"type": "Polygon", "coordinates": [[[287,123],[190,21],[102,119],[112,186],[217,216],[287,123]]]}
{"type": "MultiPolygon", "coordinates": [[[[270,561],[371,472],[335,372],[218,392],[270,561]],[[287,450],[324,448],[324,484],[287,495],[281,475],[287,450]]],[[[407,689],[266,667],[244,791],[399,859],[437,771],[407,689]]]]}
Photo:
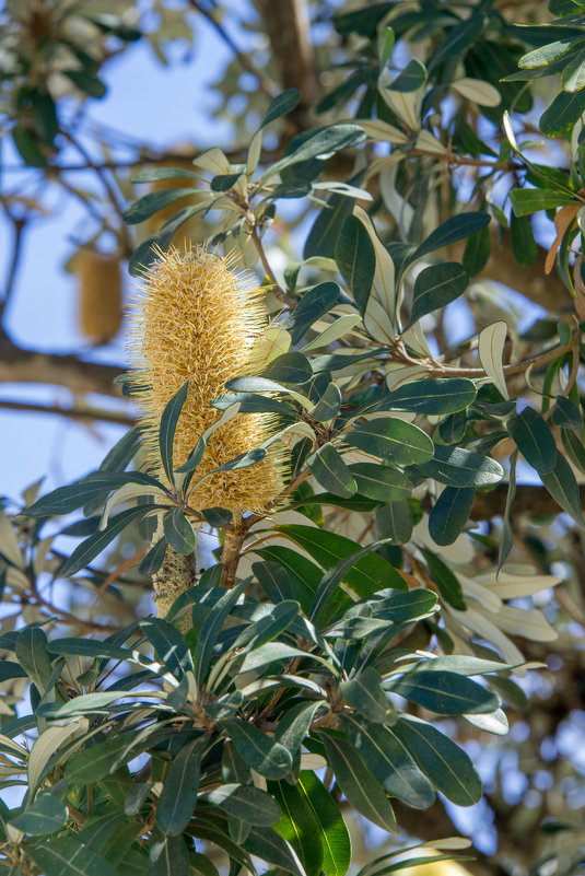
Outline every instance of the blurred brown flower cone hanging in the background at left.
{"type": "Polygon", "coordinates": [[[95,249],[75,257],[79,288],[79,327],[95,347],[113,340],[122,320],[122,280],[119,259],[95,249]]]}

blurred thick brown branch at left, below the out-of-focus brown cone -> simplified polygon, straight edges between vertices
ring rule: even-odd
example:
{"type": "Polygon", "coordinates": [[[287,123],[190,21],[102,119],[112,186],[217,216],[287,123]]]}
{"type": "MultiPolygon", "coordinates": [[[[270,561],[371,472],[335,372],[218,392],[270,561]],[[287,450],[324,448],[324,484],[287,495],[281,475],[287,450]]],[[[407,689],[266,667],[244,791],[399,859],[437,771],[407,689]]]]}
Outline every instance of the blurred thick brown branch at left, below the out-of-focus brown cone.
{"type": "Polygon", "coordinates": [[[120,396],[113,383],[124,366],[84,362],[74,353],[40,353],[0,338],[0,383],[44,383],[67,387],[71,393],[120,396]]]}

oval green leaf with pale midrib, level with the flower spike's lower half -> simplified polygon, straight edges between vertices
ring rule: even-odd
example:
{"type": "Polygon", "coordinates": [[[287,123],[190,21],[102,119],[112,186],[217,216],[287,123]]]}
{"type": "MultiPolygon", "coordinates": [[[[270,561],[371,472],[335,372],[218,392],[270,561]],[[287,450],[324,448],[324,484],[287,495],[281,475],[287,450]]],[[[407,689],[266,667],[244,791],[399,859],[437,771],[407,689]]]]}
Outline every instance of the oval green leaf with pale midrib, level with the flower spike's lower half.
{"type": "Polygon", "coordinates": [[[422,429],[397,417],[370,420],[344,433],[343,441],[395,465],[426,463],[434,452],[433,442],[422,429]]]}

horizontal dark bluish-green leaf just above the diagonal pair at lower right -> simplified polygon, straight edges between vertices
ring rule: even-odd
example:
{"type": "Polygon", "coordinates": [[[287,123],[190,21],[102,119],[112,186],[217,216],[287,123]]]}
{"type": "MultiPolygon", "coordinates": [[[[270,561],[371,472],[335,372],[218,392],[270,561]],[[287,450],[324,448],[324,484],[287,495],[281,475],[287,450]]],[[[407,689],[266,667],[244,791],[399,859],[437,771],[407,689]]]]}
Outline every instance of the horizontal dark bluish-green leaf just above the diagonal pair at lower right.
{"type": "Polygon", "coordinates": [[[387,682],[386,688],[440,715],[484,714],[499,706],[494,693],[456,673],[421,669],[387,682]]]}

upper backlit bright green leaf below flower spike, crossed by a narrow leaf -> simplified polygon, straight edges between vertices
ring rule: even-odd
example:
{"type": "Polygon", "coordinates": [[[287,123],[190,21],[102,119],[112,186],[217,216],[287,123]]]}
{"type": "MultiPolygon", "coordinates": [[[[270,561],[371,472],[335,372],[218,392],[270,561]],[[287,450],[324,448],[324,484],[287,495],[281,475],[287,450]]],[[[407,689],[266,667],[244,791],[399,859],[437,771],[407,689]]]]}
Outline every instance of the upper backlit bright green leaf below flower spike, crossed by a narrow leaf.
{"type": "MultiPolygon", "coordinates": [[[[344,536],[340,536],[337,533],[328,533],[325,529],[317,529],[313,526],[288,524],[279,526],[278,532],[289,536],[319,565],[327,570],[332,569],[346,557],[353,556],[356,551],[362,550],[360,545],[344,536]]],[[[272,550],[276,551],[276,548],[272,550]]],[[[343,573],[342,580],[362,598],[384,589],[384,587],[395,587],[399,591],[407,589],[402,576],[396,569],[386,560],[383,560],[382,557],[377,557],[372,552],[351,563],[343,573]]]]}

